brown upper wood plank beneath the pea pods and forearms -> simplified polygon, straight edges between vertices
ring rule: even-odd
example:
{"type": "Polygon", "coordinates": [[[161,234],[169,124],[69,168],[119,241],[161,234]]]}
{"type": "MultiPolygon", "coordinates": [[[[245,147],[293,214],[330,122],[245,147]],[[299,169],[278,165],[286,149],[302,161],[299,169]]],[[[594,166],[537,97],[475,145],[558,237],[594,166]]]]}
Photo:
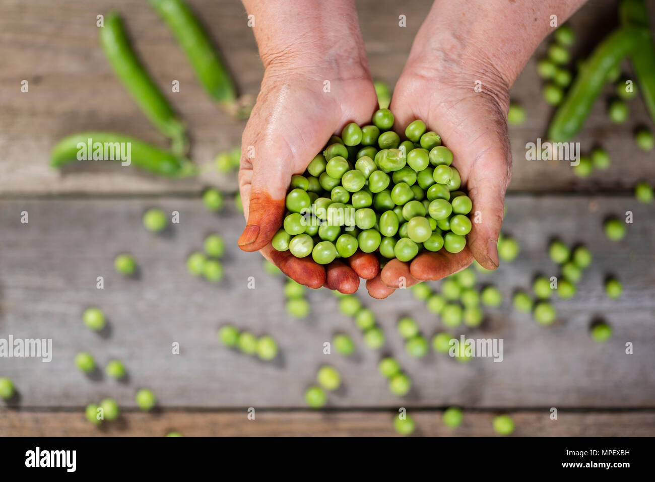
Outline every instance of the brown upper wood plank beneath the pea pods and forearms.
{"type": "MultiPolygon", "coordinates": [[[[256,94],[262,67],[252,31],[238,0],[190,0],[221,46],[242,92],[256,94]]],[[[572,19],[580,43],[575,54],[586,54],[616,22],[616,0],[589,1],[572,19]]],[[[419,24],[430,0],[358,0],[371,72],[375,79],[394,84],[402,71],[419,24]],[[398,15],[407,16],[407,27],[398,27],[398,15]]],[[[56,6],[47,0],[0,0],[0,48],[5,53],[0,72],[0,193],[197,193],[213,184],[236,190],[236,176],[220,176],[211,166],[199,179],[166,181],[119,166],[77,166],[64,175],[47,165],[54,143],[81,130],[117,130],[164,146],[121,84],[112,75],[98,45],[96,15],[111,9],[126,14],[135,48],[157,82],[167,86],[173,79],[181,91],[168,93],[189,125],[192,157],[211,163],[217,152],[238,145],[244,122],[229,119],[204,95],[166,26],[146,2],[128,0],[70,0],[56,6]],[[29,93],[20,93],[20,81],[29,81],[29,93]]],[[[655,11],[655,5],[652,9],[655,11]]],[[[642,178],[655,182],[652,153],[639,152],[631,132],[648,121],[641,100],[630,103],[631,120],[611,124],[599,101],[588,124],[578,136],[583,149],[601,141],[614,159],[606,172],[580,181],[564,163],[525,161],[525,143],[543,136],[552,108],[540,92],[535,59],[527,65],[512,90],[525,105],[528,121],[512,128],[514,191],[605,191],[629,189],[642,178]]],[[[608,86],[606,94],[611,92],[608,86]]]]}

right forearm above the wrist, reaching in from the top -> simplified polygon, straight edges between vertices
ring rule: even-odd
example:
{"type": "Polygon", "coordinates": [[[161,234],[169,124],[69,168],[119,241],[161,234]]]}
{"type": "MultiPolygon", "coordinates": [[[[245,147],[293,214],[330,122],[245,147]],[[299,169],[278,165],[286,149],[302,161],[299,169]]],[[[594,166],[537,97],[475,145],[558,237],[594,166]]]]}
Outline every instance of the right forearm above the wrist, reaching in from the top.
{"type": "Polygon", "coordinates": [[[541,41],[586,0],[436,0],[409,63],[443,55],[495,70],[511,86],[541,41]]]}

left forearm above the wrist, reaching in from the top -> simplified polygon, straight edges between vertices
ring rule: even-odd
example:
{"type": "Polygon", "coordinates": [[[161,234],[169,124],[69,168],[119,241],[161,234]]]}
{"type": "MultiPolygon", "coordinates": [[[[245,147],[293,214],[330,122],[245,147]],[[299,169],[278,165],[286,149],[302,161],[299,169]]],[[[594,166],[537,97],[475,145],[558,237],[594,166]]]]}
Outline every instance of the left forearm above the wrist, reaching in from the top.
{"type": "Polygon", "coordinates": [[[242,0],[265,67],[363,67],[364,40],[354,0],[242,0]]]}

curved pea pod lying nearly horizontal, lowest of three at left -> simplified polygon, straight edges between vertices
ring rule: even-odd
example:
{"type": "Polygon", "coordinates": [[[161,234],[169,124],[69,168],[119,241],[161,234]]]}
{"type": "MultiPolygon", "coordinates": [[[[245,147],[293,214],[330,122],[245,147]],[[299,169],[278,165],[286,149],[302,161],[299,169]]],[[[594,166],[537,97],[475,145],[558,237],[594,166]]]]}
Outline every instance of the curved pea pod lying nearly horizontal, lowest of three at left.
{"type": "Polygon", "coordinates": [[[54,168],[76,160],[111,160],[168,177],[196,174],[196,166],[187,158],[113,132],[73,134],[60,140],[50,153],[50,165],[54,168]]]}

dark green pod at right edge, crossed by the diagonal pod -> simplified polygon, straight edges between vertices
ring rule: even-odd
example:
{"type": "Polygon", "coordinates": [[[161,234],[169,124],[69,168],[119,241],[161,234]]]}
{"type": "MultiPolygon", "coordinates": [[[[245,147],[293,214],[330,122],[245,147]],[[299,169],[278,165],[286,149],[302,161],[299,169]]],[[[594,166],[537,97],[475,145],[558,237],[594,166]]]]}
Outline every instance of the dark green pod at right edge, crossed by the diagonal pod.
{"type": "MultiPolygon", "coordinates": [[[[619,5],[621,22],[626,27],[650,29],[648,9],[644,0],[622,0],[619,5]]],[[[646,104],[650,118],[655,121],[655,43],[652,35],[644,39],[638,48],[630,54],[635,67],[641,97],[646,104]]]]}

